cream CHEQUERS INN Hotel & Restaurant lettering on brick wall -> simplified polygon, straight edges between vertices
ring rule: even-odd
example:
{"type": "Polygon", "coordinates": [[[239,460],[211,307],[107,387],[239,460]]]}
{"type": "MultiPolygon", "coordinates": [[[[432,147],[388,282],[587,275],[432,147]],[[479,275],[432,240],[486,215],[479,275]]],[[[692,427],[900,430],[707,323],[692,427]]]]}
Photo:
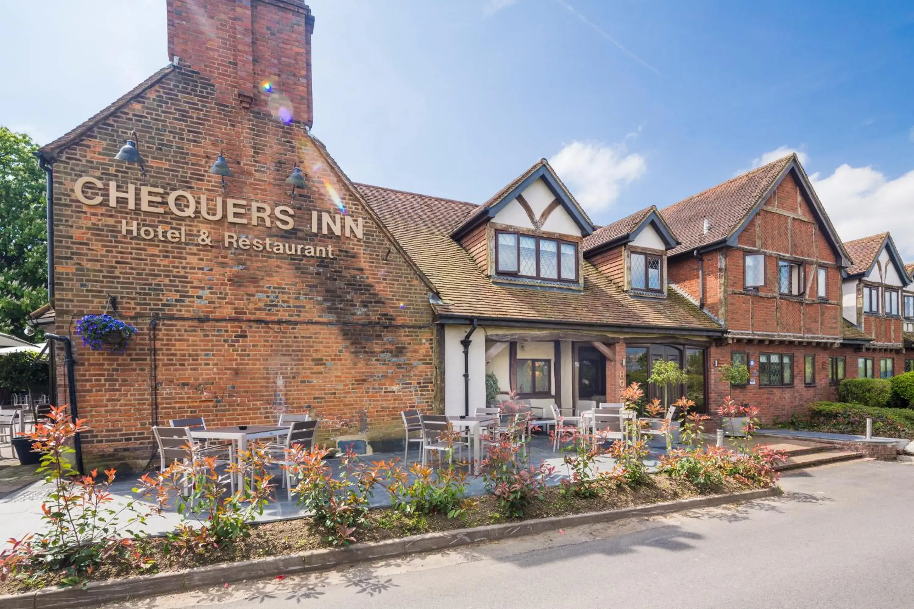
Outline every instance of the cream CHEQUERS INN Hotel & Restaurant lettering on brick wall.
{"type": "MultiPolygon", "coordinates": [[[[114,209],[138,210],[147,214],[174,215],[213,223],[224,222],[227,225],[227,230],[219,237],[216,231],[209,229],[199,229],[190,233],[186,226],[175,228],[174,225],[148,225],[137,220],[121,220],[120,233],[125,237],[208,247],[250,249],[255,252],[289,256],[334,257],[332,245],[318,246],[303,242],[301,239],[254,238],[235,232],[243,230],[242,226],[292,230],[297,220],[295,210],[289,205],[269,205],[259,201],[207,196],[185,190],[175,190],[166,194],[163,188],[146,185],[137,187],[136,184],[118,184],[115,181],[105,183],[90,175],[80,177],[73,184],[73,194],[83,205],[104,205],[114,209]]],[[[364,224],[361,217],[328,214],[313,209],[308,220],[310,232],[314,236],[363,238],[364,224]]]]}

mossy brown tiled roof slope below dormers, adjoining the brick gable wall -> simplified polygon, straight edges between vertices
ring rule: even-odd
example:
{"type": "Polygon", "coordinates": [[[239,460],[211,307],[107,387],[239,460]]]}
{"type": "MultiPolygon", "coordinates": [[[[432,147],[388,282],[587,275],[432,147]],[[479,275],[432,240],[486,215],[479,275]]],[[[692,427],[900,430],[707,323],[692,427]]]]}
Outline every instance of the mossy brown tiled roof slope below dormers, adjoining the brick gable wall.
{"type": "Polygon", "coordinates": [[[632,298],[587,262],[582,292],[498,285],[450,236],[473,204],[367,184],[356,188],[438,290],[443,304],[435,309],[443,315],[722,332],[675,289],[665,300],[632,298]]]}

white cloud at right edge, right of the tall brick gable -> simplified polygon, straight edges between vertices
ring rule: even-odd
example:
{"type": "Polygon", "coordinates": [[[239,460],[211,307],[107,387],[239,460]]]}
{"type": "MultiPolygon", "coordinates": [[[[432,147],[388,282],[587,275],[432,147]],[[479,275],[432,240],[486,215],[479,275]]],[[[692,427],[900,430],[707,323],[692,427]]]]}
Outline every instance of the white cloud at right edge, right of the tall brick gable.
{"type": "Polygon", "coordinates": [[[906,260],[914,258],[914,171],[890,180],[870,166],[847,163],[820,178],[810,176],[838,234],[845,241],[885,231],[906,260]]]}

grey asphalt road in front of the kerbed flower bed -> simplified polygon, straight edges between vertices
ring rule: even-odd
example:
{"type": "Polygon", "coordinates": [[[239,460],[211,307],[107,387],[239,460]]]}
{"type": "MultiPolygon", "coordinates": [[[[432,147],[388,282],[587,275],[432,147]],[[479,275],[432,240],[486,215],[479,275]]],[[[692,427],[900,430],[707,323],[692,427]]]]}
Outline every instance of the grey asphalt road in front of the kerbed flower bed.
{"type": "Polygon", "coordinates": [[[914,607],[914,465],[781,478],[781,498],[239,583],[145,607],[914,607]]]}

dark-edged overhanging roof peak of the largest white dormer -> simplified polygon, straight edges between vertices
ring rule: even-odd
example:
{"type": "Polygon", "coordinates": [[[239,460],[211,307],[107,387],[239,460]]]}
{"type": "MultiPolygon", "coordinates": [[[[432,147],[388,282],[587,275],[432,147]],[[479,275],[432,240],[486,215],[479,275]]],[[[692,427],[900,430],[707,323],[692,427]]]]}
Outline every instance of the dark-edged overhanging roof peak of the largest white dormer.
{"type": "Polygon", "coordinates": [[[543,184],[556,197],[558,205],[561,205],[569,214],[572,221],[579,227],[581,235],[588,236],[594,231],[593,223],[590,217],[580,207],[565,184],[558,178],[555,171],[549,165],[546,159],[540,159],[534,163],[526,172],[521,173],[509,184],[506,184],[498,193],[480,205],[473,213],[468,215],[460,226],[457,226],[451,233],[453,239],[460,239],[476,226],[488,222],[495,215],[498,215],[506,205],[514,201],[519,194],[522,194],[531,185],[542,180],[543,184]]]}

